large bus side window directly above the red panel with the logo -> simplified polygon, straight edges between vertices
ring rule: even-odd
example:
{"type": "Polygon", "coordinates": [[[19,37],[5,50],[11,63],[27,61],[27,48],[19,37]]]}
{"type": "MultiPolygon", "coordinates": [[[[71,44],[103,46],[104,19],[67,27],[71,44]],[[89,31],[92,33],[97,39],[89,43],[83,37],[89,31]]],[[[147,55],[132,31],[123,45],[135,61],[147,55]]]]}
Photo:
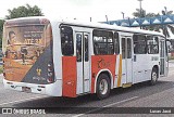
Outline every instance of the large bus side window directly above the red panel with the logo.
{"type": "Polygon", "coordinates": [[[94,30],[94,52],[98,55],[113,54],[113,32],[105,30],[94,30]]]}

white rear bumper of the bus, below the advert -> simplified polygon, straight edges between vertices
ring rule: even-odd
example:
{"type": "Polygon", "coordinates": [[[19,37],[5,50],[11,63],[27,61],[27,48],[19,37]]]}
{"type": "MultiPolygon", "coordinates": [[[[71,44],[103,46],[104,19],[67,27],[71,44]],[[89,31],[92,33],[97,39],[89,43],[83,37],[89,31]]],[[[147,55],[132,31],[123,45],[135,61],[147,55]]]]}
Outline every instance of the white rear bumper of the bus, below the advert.
{"type": "Polygon", "coordinates": [[[49,84],[37,84],[26,82],[15,82],[3,79],[5,89],[23,91],[28,93],[39,93],[50,96],[62,96],[62,80],[57,80],[49,84]]]}

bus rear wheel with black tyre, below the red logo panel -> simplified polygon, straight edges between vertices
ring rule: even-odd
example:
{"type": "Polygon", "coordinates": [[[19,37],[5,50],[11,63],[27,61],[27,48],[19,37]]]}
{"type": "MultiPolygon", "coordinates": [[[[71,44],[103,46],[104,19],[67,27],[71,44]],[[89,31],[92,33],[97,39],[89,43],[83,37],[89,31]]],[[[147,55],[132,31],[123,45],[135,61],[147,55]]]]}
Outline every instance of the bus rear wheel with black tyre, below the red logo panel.
{"type": "Polygon", "coordinates": [[[105,99],[109,96],[111,90],[111,82],[109,76],[101,74],[97,80],[97,98],[99,100],[105,99]]]}

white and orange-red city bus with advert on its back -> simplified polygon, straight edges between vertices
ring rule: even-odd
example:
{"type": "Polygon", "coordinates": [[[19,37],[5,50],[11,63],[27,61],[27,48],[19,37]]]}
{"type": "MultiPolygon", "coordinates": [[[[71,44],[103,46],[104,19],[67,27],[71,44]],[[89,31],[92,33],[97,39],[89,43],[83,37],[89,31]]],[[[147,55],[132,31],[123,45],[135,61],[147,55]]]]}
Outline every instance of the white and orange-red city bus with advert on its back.
{"type": "Polygon", "coordinates": [[[128,88],[167,75],[165,37],[156,31],[45,16],[3,25],[5,89],[50,96],[128,88]]]}

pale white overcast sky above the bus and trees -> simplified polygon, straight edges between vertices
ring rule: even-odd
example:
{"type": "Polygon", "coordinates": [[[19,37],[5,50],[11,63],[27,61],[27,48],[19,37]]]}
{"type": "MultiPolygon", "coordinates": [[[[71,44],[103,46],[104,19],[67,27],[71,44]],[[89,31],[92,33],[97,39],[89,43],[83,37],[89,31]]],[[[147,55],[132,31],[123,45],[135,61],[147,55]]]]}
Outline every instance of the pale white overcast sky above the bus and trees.
{"type": "MultiPolygon", "coordinates": [[[[80,21],[92,22],[109,21],[133,17],[133,12],[139,9],[138,0],[3,0],[0,6],[0,17],[8,15],[8,9],[12,10],[26,3],[32,6],[38,5],[46,16],[77,18],[80,21]]],[[[167,11],[174,11],[174,0],[144,0],[142,9],[148,12],[160,13],[167,8],[167,11]]]]}

